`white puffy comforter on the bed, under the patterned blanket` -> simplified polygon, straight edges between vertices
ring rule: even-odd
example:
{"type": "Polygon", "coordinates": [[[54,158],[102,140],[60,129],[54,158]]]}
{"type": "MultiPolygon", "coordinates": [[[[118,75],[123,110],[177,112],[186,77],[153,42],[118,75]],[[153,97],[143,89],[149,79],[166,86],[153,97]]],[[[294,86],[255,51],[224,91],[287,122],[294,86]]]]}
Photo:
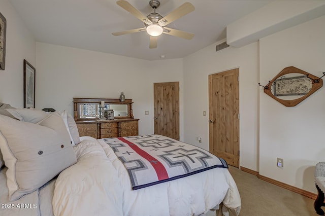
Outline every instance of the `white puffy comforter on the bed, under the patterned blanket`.
{"type": "MultiPolygon", "coordinates": [[[[84,137],[74,149],[78,162],[55,182],[54,215],[200,215],[221,202],[240,211],[239,192],[228,169],[133,191],[124,165],[103,140],[84,137]]],[[[222,208],[224,215],[227,208],[222,208]]]]}

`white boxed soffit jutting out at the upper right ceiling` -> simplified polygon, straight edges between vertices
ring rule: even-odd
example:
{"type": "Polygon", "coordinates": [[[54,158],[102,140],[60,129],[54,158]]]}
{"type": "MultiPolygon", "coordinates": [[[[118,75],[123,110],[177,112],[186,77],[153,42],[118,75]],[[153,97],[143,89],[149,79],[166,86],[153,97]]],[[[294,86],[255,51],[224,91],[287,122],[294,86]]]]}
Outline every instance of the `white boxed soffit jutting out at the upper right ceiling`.
{"type": "Polygon", "coordinates": [[[227,25],[227,43],[242,47],[267,35],[324,15],[324,1],[272,1],[227,25]]]}

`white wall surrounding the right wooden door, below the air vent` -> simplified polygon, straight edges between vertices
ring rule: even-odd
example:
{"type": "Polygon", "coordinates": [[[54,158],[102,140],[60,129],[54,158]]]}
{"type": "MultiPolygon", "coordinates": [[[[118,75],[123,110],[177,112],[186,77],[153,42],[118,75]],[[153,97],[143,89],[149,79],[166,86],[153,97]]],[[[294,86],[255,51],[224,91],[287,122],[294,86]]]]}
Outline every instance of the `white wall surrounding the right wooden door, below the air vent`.
{"type": "Polygon", "coordinates": [[[222,42],[184,58],[184,140],[209,150],[208,75],[239,67],[240,165],[258,170],[258,44],[216,52],[222,42]]]}

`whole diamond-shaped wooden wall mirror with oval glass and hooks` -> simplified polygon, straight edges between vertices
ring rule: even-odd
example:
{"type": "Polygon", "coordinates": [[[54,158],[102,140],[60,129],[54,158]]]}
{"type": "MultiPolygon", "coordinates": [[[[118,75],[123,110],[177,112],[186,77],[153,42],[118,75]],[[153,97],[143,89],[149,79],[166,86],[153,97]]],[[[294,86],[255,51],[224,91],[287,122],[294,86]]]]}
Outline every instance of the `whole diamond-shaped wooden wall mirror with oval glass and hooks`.
{"type": "Polygon", "coordinates": [[[290,66],[285,67],[269,81],[268,85],[264,86],[264,92],[285,106],[295,106],[322,86],[321,78],[290,66]]]}

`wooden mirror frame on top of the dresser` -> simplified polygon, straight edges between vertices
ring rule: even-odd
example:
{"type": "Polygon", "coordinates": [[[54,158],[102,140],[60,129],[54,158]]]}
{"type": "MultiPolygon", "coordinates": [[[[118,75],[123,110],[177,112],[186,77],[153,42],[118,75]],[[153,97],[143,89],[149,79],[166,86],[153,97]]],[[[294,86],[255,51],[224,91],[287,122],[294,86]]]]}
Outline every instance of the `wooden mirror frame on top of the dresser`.
{"type": "Polygon", "coordinates": [[[127,104],[127,116],[115,116],[114,119],[126,119],[126,118],[131,118],[134,119],[133,116],[133,109],[132,109],[132,99],[125,99],[125,101],[120,101],[119,98],[79,98],[79,97],[74,97],[73,98],[73,109],[74,109],[74,119],[76,121],[80,120],[93,120],[96,118],[89,118],[89,119],[82,119],[79,116],[79,109],[80,109],[80,104],[84,103],[98,103],[101,104],[101,101],[105,101],[105,104],[127,104]]]}

